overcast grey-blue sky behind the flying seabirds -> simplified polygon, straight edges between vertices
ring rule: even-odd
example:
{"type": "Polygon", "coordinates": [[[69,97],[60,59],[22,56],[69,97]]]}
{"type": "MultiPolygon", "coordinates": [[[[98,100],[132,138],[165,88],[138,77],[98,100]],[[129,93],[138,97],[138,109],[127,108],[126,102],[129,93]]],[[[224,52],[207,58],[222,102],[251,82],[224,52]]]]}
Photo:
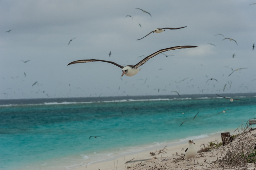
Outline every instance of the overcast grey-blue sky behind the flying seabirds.
{"type": "Polygon", "coordinates": [[[256,92],[255,2],[1,0],[0,99],[256,92]],[[184,26],[136,41],[155,28],[184,26]],[[159,54],[133,77],[103,62],[67,66],[82,59],[135,65],[185,45],[198,48],[159,54]],[[228,77],[238,68],[248,69],[228,77]],[[206,84],[211,78],[218,82],[206,84]]]}

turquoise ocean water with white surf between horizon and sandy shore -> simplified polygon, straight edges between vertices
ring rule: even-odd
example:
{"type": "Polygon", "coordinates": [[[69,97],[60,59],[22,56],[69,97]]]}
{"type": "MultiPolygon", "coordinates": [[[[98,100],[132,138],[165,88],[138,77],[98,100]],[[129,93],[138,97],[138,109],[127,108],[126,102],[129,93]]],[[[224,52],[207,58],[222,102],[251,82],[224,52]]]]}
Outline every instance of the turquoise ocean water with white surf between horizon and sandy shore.
{"type": "Polygon", "coordinates": [[[256,117],[256,98],[233,96],[248,100],[216,95],[1,100],[0,169],[74,169],[235,129],[256,117]],[[92,135],[102,138],[89,139],[92,135]]]}

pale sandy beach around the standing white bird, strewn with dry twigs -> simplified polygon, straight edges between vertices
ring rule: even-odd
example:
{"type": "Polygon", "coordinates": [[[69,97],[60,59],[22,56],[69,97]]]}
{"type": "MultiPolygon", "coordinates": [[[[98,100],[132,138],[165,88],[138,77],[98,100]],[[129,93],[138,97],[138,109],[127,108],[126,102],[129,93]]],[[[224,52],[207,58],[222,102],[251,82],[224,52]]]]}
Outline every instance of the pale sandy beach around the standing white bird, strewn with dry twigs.
{"type": "MultiPolygon", "coordinates": [[[[230,132],[232,134],[232,132],[230,132]]],[[[250,137],[250,139],[255,139],[256,130],[253,130],[246,134],[245,138],[250,137]]],[[[237,139],[237,138],[236,138],[237,139]]],[[[236,139],[233,141],[236,142],[236,139]]],[[[196,151],[204,148],[203,144],[207,147],[210,142],[220,143],[221,142],[221,134],[216,134],[214,136],[210,136],[203,139],[193,140],[195,142],[196,151]],[[201,146],[202,145],[202,146],[201,146]],[[201,146],[201,147],[200,147],[201,146]]],[[[193,159],[188,161],[188,166],[186,166],[186,159],[184,157],[185,149],[188,147],[188,143],[178,144],[170,147],[166,147],[164,149],[167,153],[159,153],[160,149],[147,150],[144,152],[140,152],[137,154],[126,155],[123,157],[119,157],[107,162],[94,163],[91,165],[87,165],[87,167],[80,167],[74,170],[153,170],[153,169],[216,169],[220,170],[223,168],[215,166],[213,168],[211,165],[213,162],[217,160],[217,156],[220,157],[223,147],[215,147],[211,148],[207,152],[197,153],[195,162],[197,165],[194,165],[193,159]],[[150,152],[156,152],[156,155],[150,155],[150,152]],[[131,160],[131,161],[130,161],[131,160]],[[129,161],[128,163],[126,163],[129,161]]],[[[162,148],[163,149],[163,148],[162,148]]],[[[249,163],[249,166],[246,169],[254,169],[253,163],[249,163]]],[[[236,169],[234,167],[226,167],[225,169],[236,169]]]]}

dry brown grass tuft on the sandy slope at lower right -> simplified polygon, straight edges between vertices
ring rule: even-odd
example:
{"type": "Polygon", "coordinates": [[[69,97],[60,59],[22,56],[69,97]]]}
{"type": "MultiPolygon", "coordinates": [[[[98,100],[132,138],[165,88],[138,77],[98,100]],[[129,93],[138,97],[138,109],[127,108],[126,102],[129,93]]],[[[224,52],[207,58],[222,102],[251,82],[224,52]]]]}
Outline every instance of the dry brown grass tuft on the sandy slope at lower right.
{"type": "Polygon", "coordinates": [[[220,157],[217,156],[213,165],[218,164],[217,166],[221,168],[247,169],[248,163],[254,163],[256,169],[256,138],[249,135],[252,128],[248,122],[245,127],[242,127],[242,125],[239,127],[235,130],[238,133],[235,140],[222,146],[222,153],[220,157]],[[241,127],[240,131],[239,127],[241,127]]]}

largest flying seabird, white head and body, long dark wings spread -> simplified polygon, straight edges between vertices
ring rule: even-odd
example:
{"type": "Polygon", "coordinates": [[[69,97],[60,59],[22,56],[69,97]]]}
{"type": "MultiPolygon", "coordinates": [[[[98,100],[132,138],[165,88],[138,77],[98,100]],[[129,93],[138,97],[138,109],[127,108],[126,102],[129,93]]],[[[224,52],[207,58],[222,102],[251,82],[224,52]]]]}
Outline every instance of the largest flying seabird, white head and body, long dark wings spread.
{"type": "Polygon", "coordinates": [[[165,51],[169,51],[169,50],[176,50],[176,49],[182,49],[182,48],[194,48],[194,47],[197,47],[197,46],[177,46],[177,47],[170,47],[170,48],[166,48],[166,49],[162,49],[162,50],[159,50],[149,56],[147,56],[146,58],[144,58],[143,60],[141,60],[139,63],[137,63],[136,65],[128,65],[128,66],[121,66],[119,64],[116,64],[114,62],[111,62],[111,61],[105,61],[105,60],[96,60],[96,59],[90,59],[90,60],[77,60],[77,61],[73,61],[71,63],[69,63],[68,65],[71,65],[71,64],[76,64],[76,63],[89,63],[89,62],[106,62],[106,63],[111,63],[113,65],[116,65],[117,67],[120,67],[123,71],[123,74],[122,74],[122,77],[123,75],[126,75],[126,76],[134,76],[136,75],[138,72],[139,72],[139,67],[142,66],[143,64],[145,64],[149,59],[151,59],[152,57],[162,53],[162,52],[165,52],[165,51]]]}

